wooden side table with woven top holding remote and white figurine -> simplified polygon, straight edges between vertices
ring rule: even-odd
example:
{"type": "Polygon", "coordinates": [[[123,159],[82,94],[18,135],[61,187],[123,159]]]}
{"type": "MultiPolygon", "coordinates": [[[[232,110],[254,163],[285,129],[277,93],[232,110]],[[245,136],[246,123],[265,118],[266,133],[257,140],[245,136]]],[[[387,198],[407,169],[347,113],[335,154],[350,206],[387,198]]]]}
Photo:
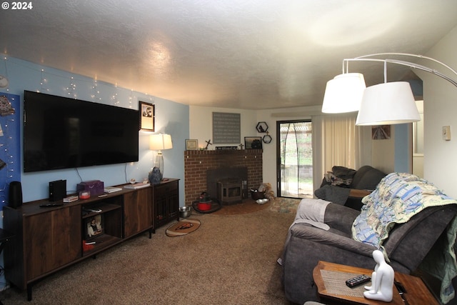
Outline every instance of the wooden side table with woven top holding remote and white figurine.
{"type": "MultiPolygon", "coordinates": [[[[374,262],[373,262],[374,266],[374,262]]],[[[318,295],[326,303],[333,301],[333,304],[398,304],[398,305],[413,305],[413,304],[430,304],[438,305],[438,301],[433,297],[431,292],[427,289],[423,281],[408,274],[401,274],[395,272],[395,280],[403,285],[406,289],[406,294],[403,294],[403,301],[395,286],[393,286],[393,300],[390,303],[383,301],[375,301],[366,299],[363,296],[364,285],[356,288],[349,288],[346,286],[346,279],[359,274],[366,274],[371,276],[373,270],[357,268],[353,266],[345,266],[340,264],[328,263],[326,261],[319,261],[313,270],[314,283],[318,289],[318,295]]],[[[371,285],[371,282],[365,285],[371,285]]]]}

